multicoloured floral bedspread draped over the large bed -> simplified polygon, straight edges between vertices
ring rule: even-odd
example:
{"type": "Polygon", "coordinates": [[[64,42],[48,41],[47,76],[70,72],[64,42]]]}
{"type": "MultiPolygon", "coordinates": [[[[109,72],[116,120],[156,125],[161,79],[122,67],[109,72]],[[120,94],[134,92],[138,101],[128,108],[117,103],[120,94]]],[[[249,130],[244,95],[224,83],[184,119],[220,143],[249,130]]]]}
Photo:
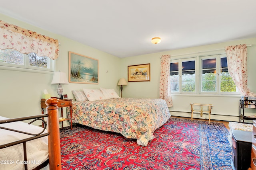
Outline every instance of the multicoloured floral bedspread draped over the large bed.
{"type": "MultiPolygon", "coordinates": [[[[74,101],[73,123],[121,133],[147,146],[154,139],[154,131],[170,118],[167,104],[162,99],[114,98],[96,101],[74,101]]],[[[67,110],[70,117],[70,110],[67,110]]]]}

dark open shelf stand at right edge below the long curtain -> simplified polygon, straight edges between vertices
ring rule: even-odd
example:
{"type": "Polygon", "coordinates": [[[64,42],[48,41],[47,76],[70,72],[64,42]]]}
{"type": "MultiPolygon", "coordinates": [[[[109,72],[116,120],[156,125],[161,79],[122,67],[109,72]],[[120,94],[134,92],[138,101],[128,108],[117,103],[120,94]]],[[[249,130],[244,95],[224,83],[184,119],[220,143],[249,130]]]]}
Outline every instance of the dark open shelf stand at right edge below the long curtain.
{"type": "Polygon", "coordinates": [[[240,99],[240,105],[239,105],[239,115],[240,115],[240,119],[239,122],[241,122],[241,120],[244,123],[244,120],[256,120],[256,117],[248,117],[244,115],[244,109],[248,108],[248,109],[255,109],[256,108],[256,100],[242,100],[240,99]],[[242,109],[242,113],[241,113],[241,109],[242,109]]]}

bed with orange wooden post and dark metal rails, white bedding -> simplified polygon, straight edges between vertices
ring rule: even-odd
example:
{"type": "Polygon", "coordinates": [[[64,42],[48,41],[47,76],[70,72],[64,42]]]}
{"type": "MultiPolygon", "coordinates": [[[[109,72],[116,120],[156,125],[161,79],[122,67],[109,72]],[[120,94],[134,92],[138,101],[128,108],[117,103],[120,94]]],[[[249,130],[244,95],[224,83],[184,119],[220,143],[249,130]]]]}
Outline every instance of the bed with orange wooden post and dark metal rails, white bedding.
{"type": "Polygon", "coordinates": [[[61,170],[58,100],[51,98],[46,104],[48,108],[44,115],[14,119],[0,116],[1,170],[61,170]],[[38,120],[45,123],[41,117],[47,117],[47,130],[46,126],[30,124],[38,120]],[[30,123],[24,123],[31,119],[30,123]]]}

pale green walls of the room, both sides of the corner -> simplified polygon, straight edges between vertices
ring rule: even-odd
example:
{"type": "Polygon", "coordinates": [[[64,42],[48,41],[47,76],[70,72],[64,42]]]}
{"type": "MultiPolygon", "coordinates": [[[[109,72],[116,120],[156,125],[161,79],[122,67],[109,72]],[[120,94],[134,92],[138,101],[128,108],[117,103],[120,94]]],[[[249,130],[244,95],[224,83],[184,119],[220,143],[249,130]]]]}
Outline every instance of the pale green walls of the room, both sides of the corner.
{"type": "MultiPolygon", "coordinates": [[[[236,41],[223,42],[212,45],[204,45],[186,49],[164,51],[127,58],[104,53],[87,45],[83,45],[64,36],[51,33],[28,23],[15,20],[0,14],[1,20],[18,25],[20,27],[36,31],[42,35],[58,39],[60,42],[59,58],[56,59],[55,71],[61,70],[68,75],[68,51],[86,55],[99,60],[99,84],[76,84],[63,85],[64,94],[73,98],[71,90],[82,90],[83,88],[114,88],[120,94],[120,87],[116,84],[122,77],[128,77],[128,66],[136,64],[150,63],[150,82],[128,82],[123,88],[123,97],[128,98],[159,98],[160,81],[160,56],[170,54],[172,59],[182,56],[202,55],[216,52],[224,52],[224,47],[228,45],[252,44],[248,47],[248,87],[252,92],[256,92],[255,72],[256,72],[256,38],[241,39],[236,41]],[[219,49],[216,51],[216,49],[219,49]]],[[[4,117],[22,117],[41,114],[40,99],[44,89],[52,96],[57,96],[56,85],[51,85],[52,73],[24,72],[20,70],[0,69],[0,115],[4,117]]],[[[170,107],[172,115],[190,116],[190,103],[213,104],[212,119],[227,121],[238,121],[239,98],[225,95],[172,95],[174,106],[170,107]]],[[[251,109],[248,114],[254,114],[251,109]]],[[[195,115],[194,117],[196,117],[195,115]]],[[[199,117],[200,118],[200,117],[199,117]]],[[[208,118],[204,116],[202,118],[208,118]]]]}

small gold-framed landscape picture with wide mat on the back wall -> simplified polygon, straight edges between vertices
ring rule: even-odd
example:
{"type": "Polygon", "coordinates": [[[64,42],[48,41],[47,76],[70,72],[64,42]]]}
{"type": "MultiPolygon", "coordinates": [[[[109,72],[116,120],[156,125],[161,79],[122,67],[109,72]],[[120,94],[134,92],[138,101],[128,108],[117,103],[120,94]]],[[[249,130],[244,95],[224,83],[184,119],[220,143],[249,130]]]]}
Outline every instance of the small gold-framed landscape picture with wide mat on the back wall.
{"type": "Polygon", "coordinates": [[[128,66],[128,82],[150,81],[150,63],[128,66]]]}

